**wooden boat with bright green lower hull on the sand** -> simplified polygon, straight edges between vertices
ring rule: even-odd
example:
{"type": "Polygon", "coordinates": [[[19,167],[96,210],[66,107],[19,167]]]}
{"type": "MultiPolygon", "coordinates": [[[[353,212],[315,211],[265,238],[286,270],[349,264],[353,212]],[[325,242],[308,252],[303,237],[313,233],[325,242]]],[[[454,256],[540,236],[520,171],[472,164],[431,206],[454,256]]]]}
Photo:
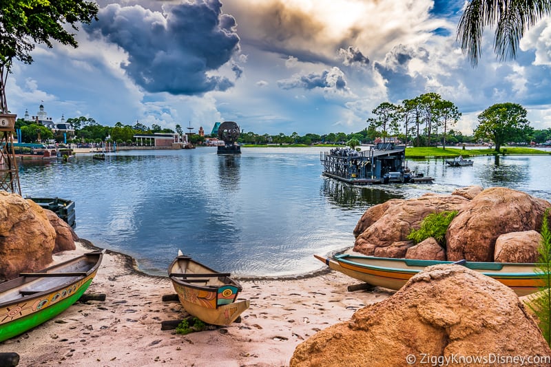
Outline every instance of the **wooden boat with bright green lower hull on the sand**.
{"type": "Polygon", "coordinates": [[[85,253],[0,284],[0,342],[52,319],[88,289],[103,252],[85,253]]]}

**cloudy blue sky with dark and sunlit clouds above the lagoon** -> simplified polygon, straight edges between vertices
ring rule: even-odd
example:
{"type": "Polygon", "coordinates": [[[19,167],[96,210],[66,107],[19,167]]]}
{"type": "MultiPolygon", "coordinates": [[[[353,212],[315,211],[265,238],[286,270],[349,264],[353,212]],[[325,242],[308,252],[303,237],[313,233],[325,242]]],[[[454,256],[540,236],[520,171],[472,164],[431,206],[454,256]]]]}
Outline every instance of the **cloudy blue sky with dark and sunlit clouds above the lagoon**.
{"type": "Polygon", "coordinates": [[[236,121],[245,132],[300,135],[367,127],[380,103],[436,92],[472,134],[495,103],[519,103],[534,129],[551,127],[551,19],[500,62],[492,29],[472,67],[456,41],[463,1],[98,0],[78,48],[37,45],[16,62],[8,108],[54,121],[174,129],[236,121]]]}

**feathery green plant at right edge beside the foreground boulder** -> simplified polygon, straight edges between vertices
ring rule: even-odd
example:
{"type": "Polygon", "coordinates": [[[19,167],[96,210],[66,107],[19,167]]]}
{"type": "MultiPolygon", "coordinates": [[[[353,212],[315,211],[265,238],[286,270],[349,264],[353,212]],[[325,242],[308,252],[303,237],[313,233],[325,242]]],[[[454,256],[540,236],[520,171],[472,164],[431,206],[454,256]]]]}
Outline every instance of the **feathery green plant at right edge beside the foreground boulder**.
{"type": "Polygon", "coordinates": [[[539,319],[539,328],[543,337],[551,346],[551,231],[549,229],[549,210],[543,214],[541,222],[541,246],[536,273],[541,275],[539,293],[530,297],[528,306],[539,319]]]}

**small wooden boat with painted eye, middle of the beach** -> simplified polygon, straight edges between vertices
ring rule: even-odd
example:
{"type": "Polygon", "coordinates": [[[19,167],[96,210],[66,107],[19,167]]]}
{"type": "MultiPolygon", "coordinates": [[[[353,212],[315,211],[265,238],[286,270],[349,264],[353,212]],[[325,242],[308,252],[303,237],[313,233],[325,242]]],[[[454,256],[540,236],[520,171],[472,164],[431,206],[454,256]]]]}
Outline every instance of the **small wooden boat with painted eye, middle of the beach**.
{"type": "Polygon", "coordinates": [[[229,273],[218,273],[181,251],[168,275],[185,311],[202,322],[228,326],[249,308],[249,300],[236,302],[242,287],[229,273]]]}

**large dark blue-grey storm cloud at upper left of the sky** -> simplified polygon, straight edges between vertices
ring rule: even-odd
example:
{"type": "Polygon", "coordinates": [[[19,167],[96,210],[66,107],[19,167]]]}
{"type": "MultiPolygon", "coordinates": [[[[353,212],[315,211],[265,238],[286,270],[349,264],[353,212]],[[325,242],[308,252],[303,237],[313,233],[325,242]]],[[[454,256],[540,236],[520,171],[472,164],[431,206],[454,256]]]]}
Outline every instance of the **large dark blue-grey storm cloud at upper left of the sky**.
{"type": "Polygon", "coordinates": [[[125,50],[128,61],[121,67],[147,92],[227,90],[233,86],[228,78],[207,75],[239,50],[236,21],[221,8],[219,0],[196,0],[170,6],[163,16],[141,6],[110,4],[85,30],[125,50]]]}

